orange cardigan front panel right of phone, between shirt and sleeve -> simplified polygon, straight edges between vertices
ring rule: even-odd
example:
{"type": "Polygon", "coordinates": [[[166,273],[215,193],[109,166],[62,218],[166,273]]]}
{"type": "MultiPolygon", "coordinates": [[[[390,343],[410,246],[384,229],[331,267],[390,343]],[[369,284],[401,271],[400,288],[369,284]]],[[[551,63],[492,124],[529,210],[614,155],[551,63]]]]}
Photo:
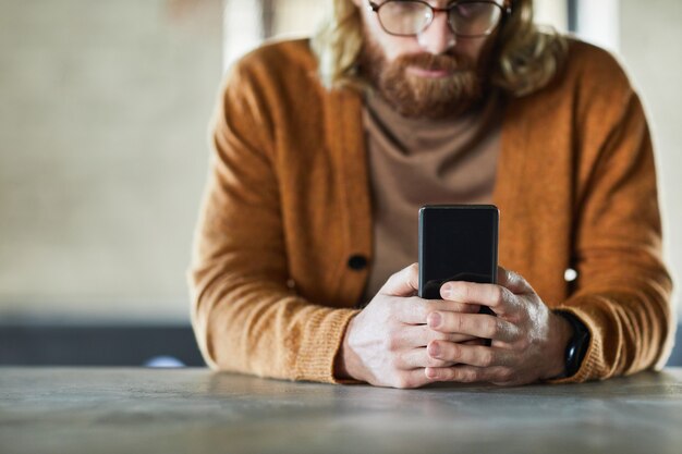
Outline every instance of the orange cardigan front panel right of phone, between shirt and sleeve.
{"type": "Polygon", "coordinates": [[[571,247],[570,99],[546,89],[512,100],[502,126],[495,201],[500,265],[521,273],[546,303],[567,296],[571,247]],[[565,245],[557,250],[555,244],[565,245]]]}

